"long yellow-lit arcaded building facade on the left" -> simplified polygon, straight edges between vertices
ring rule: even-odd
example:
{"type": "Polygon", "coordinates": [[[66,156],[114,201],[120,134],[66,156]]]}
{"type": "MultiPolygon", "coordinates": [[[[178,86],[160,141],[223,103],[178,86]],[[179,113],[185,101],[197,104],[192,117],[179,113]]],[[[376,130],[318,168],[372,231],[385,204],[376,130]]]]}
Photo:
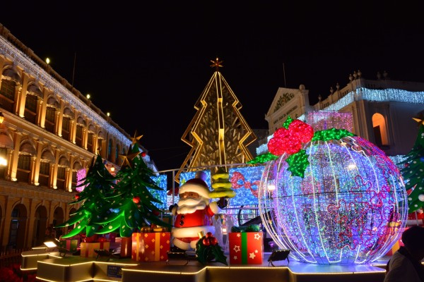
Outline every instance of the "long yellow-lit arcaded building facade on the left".
{"type": "Polygon", "coordinates": [[[21,249],[76,210],[77,172],[96,154],[119,169],[131,139],[2,25],[0,73],[0,242],[21,249]]]}

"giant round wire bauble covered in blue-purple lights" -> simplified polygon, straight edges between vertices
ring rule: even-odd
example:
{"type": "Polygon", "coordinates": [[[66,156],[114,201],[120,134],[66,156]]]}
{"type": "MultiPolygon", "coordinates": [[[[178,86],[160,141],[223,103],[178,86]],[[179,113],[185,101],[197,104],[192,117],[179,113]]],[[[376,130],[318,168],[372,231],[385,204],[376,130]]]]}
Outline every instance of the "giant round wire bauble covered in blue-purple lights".
{"type": "Polygon", "coordinates": [[[302,262],[364,264],[385,255],[408,216],[399,169],[362,137],[303,149],[310,162],[303,178],[288,171],[288,154],[264,169],[259,209],[269,235],[302,262]]]}

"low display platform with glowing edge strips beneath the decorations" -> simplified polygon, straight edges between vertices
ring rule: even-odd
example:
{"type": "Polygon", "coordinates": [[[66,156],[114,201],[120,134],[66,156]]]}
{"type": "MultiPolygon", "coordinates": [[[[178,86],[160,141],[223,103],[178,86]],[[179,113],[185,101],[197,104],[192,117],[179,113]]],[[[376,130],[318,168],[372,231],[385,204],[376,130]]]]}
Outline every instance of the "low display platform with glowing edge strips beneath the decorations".
{"type": "Polygon", "coordinates": [[[170,259],[168,262],[136,262],[117,257],[85,258],[41,250],[23,252],[23,270],[37,269],[39,281],[361,281],[384,280],[384,267],[389,257],[369,265],[321,265],[302,262],[268,262],[271,253],[264,253],[262,264],[201,265],[196,259],[170,259]],[[27,266],[25,268],[24,266],[27,266]],[[149,280],[150,279],[150,280],[149,280]]]}

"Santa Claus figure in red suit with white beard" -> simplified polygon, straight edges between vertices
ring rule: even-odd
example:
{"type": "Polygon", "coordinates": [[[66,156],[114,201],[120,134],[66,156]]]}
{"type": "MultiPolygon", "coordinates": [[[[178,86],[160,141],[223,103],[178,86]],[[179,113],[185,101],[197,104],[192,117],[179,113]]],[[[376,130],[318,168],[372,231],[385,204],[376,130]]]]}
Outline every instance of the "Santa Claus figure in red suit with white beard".
{"type": "Polygon", "coordinates": [[[170,207],[175,216],[172,243],[182,250],[195,250],[198,233],[215,233],[212,216],[220,212],[217,202],[209,202],[209,188],[203,171],[179,187],[179,201],[170,207]]]}

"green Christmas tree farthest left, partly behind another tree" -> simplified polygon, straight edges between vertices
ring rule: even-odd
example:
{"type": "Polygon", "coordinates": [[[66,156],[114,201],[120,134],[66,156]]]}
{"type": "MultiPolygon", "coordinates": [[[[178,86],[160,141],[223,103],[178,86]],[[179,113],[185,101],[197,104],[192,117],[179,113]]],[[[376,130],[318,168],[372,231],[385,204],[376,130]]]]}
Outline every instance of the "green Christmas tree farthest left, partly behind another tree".
{"type": "Polygon", "coordinates": [[[94,235],[102,226],[95,223],[96,219],[103,218],[109,212],[108,198],[114,193],[114,176],[107,171],[102,157],[93,157],[86,178],[77,187],[84,186],[84,190],[75,195],[75,200],[69,204],[81,204],[79,209],[71,214],[71,218],[56,228],[77,226],[61,238],[71,238],[79,233],[86,233],[87,237],[94,235]]]}

